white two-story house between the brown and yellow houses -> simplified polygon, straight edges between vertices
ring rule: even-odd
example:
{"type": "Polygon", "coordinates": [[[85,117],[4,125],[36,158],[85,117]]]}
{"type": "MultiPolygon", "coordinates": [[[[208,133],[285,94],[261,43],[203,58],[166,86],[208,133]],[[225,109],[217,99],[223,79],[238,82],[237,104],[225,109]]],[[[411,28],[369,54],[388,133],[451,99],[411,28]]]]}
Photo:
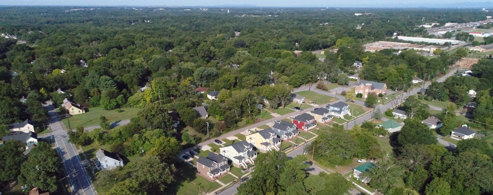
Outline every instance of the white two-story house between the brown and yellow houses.
{"type": "Polygon", "coordinates": [[[219,148],[222,156],[233,162],[235,167],[247,167],[246,163],[253,164],[257,158],[257,151],[253,150],[253,145],[247,141],[240,141],[225,147],[219,148]]]}

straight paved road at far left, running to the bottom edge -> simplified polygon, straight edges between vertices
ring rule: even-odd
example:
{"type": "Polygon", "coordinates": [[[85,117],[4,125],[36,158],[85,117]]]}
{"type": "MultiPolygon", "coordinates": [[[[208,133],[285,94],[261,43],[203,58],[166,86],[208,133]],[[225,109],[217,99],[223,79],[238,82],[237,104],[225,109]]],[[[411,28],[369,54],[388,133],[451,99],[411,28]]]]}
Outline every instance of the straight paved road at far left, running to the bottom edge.
{"type": "Polygon", "coordinates": [[[69,178],[72,188],[72,195],[96,195],[91,185],[90,177],[80,163],[78,153],[74,146],[69,142],[69,135],[64,129],[60,118],[57,116],[52,102],[43,104],[50,114],[50,129],[53,131],[52,139],[55,140],[58,154],[62,157],[65,174],[69,178]]]}

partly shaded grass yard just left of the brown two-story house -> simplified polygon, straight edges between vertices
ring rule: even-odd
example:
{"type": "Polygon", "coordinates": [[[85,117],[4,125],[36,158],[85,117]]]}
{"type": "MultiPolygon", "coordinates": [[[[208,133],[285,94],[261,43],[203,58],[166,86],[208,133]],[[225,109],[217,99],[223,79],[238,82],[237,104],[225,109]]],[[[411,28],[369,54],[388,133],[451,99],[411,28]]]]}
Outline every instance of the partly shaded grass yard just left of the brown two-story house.
{"type": "Polygon", "coordinates": [[[221,187],[217,182],[211,182],[206,178],[197,175],[195,173],[195,170],[197,169],[186,162],[178,163],[176,168],[184,172],[184,177],[181,177],[181,183],[179,187],[177,187],[177,195],[197,195],[204,193],[204,191],[205,193],[210,193],[221,187]],[[201,190],[201,187],[203,187],[203,191],[201,190]]]}

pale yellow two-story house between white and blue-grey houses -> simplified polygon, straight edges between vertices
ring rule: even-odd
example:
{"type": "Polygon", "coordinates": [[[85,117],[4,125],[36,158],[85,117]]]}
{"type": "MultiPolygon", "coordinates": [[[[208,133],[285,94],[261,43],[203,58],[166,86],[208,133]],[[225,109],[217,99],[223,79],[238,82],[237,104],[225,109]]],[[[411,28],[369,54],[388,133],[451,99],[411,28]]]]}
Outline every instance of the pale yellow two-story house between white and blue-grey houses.
{"type": "Polygon", "coordinates": [[[281,138],[272,128],[246,135],[246,141],[264,153],[272,150],[279,151],[279,145],[281,145],[281,138]]]}

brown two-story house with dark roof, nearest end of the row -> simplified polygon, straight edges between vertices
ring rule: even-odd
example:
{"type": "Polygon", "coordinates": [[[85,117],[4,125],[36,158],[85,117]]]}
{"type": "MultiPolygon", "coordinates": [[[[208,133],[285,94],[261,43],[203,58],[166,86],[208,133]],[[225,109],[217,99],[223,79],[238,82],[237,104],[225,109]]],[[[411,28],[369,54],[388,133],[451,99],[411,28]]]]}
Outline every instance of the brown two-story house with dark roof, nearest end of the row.
{"type": "Polygon", "coordinates": [[[197,171],[199,174],[212,181],[228,174],[230,167],[228,159],[213,152],[209,153],[207,157],[200,156],[197,159],[197,171]]]}

